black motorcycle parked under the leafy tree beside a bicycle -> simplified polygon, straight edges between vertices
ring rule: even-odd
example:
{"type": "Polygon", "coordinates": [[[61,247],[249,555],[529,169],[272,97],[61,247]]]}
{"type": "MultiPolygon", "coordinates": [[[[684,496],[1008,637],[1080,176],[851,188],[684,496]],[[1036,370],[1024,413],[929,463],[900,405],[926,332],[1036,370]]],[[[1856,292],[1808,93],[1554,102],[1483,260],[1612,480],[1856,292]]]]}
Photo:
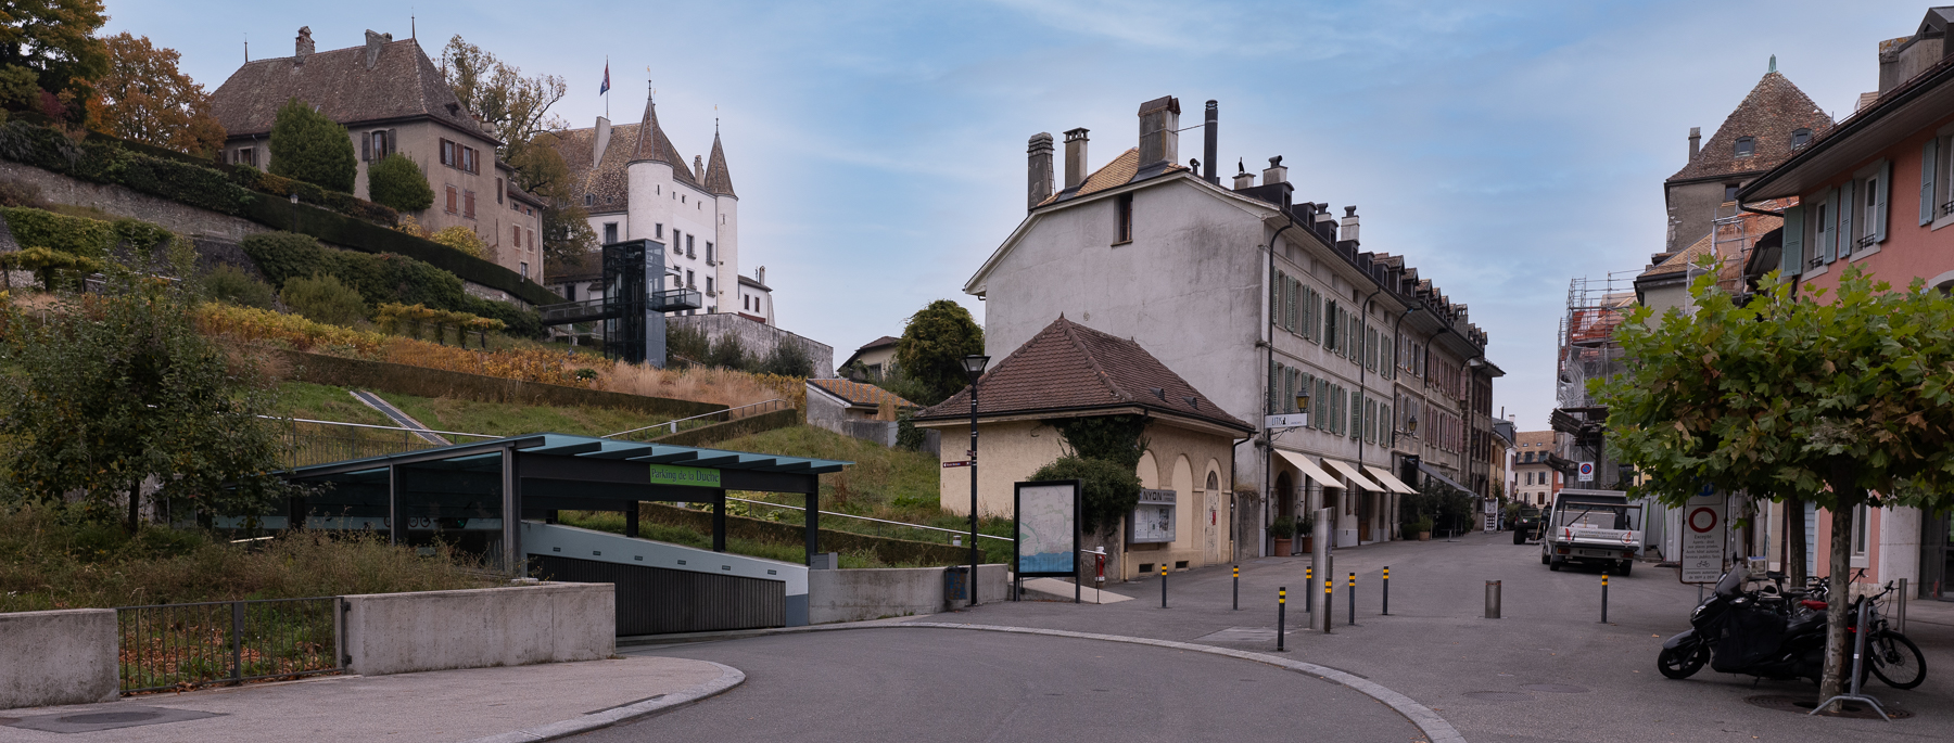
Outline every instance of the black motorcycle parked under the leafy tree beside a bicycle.
{"type": "Polygon", "coordinates": [[[1723,573],[1690,612],[1690,628],[1663,642],[1655,665],[1688,679],[1706,663],[1718,673],[1759,679],[1811,679],[1825,673],[1825,612],[1794,605],[1774,585],[1743,591],[1743,569],[1723,573]]]}

